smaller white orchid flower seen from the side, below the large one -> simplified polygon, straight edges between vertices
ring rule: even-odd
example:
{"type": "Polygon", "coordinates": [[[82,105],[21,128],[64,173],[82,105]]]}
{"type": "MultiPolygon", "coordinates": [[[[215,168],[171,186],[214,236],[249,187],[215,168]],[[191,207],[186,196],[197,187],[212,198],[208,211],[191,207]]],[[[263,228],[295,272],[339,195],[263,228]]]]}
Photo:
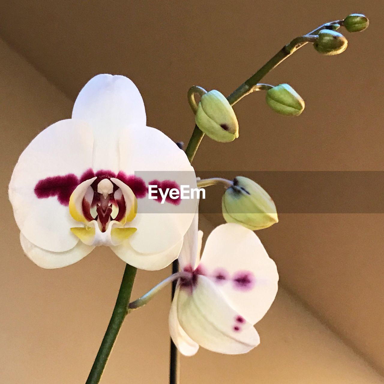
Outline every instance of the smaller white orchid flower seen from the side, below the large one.
{"type": "Polygon", "coordinates": [[[185,235],[169,329],[179,351],[199,346],[225,354],[246,353],[260,343],[253,324],[268,311],[278,288],[276,265],[257,235],[239,224],[210,233],[199,260],[202,232],[197,219],[185,235]]]}

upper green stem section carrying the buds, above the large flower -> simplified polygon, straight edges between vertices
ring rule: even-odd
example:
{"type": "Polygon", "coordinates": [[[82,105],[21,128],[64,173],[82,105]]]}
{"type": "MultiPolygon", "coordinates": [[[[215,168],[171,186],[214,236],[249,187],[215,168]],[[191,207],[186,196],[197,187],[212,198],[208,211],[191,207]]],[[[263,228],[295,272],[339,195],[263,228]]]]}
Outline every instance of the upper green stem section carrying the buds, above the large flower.
{"type": "MultiPolygon", "coordinates": [[[[270,60],[268,60],[255,74],[253,74],[249,79],[247,79],[243,84],[241,84],[235,91],[233,91],[228,97],[227,100],[231,105],[236,104],[239,100],[241,100],[244,96],[252,93],[256,89],[257,83],[273,68],[276,68],[281,62],[283,62],[288,56],[292,55],[293,52],[297,51],[302,46],[307,43],[313,42],[315,35],[323,29],[337,29],[334,25],[339,24],[343,25],[343,20],[335,20],[334,22],[325,23],[318,28],[314,29],[310,33],[304,36],[299,36],[293,39],[289,44],[283,46],[283,48],[276,53],[270,60]]],[[[195,157],[197,152],[197,148],[200,145],[204,137],[204,133],[200,131],[199,127],[195,125],[195,129],[192,133],[192,137],[188,143],[187,149],[185,153],[188,156],[190,162],[195,157]]]]}

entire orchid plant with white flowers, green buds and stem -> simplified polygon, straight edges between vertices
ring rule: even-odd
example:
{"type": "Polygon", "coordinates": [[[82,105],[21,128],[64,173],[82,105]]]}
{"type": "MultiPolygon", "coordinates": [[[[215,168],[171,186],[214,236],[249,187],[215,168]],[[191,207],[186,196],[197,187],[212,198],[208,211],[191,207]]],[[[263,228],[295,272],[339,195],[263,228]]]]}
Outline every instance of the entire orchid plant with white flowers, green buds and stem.
{"type": "Polygon", "coordinates": [[[190,88],[196,126],[185,152],[146,125],[134,83],[108,74],[84,86],[71,119],[52,124],[23,151],[13,170],[9,198],[25,254],[43,268],[59,268],[106,245],[127,263],[120,288],[126,301],[116,303],[87,383],[99,382],[126,314],[172,281],[177,284],[169,329],[181,353],[190,356],[203,346],[238,354],[258,345],[253,324],[275,299],[278,273],[253,231],[278,222],[275,204],[253,180],[200,180],[190,162],[204,134],[218,142],[239,136],[232,106],[254,91],[266,91],[266,103],[277,113],[300,115],[305,103],[290,85],[258,81],[306,43],[324,55],[343,52],[347,40],[336,31],[342,25],[349,32],[362,31],[368,19],[352,14],[294,39],[228,98],[217,90],[190,88]],[[185,183],[226,187],[222,213],[227,223],[209,235],[201,258],[197,199],[192,204],[167,199],[159,204],[147,198],[150,186],[177,189],[185,183]],[[176,259],[179,270],[129,303],[136,268],[159,270],[176,259]]]}

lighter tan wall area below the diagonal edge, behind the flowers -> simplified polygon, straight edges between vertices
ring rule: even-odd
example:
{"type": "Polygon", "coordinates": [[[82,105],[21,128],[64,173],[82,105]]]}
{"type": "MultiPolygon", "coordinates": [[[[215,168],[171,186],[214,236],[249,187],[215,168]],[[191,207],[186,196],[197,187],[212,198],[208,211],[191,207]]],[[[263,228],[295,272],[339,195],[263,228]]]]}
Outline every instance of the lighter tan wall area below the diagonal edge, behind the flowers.
{"type": "MultiPolygon", "coordinates": [[[[7,184],[18,155],[45,126],[70,116],[72,102],[0,40],[0,382],[84,382],[114,305],[124,263],[98,249],[76,265],[43,270],[18,243],[7,184]]],[[[209,232],[211,225],[202,227],[209,232]]],[[[139,272],[133,296],[169,274],[139,272]]],[[[132,313],[103,383],[167,383],[169,290],[132,313]]],[[[244,356],[199,351],[182,358],[182,384],[378,384],[362,358],[280,289],[258,324],[260,347],[244,356]]]]}

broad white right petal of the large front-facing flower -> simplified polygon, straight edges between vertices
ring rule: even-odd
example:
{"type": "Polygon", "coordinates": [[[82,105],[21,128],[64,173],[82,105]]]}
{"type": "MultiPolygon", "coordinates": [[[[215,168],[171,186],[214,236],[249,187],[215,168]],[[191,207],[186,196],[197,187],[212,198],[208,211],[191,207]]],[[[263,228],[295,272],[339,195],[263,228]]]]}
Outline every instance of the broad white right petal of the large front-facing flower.
{"type": "MultiPolygon", "coordinates": [[[[146,185],[152,180],[171,180],[177,185],[197,188],[196,176],[187,156],[161,131],[142,127],[126,129],[120,136],[120,170],[135,174],[146,185]]],[[[179,204],[146,197],[137,199],[137,215],[132,226],[137,232],[131,246],[140,253],[162,252],[184,237],[194,218],[197,199],[181,199],[179,204]],[[148,241],[148,239],[151,241],[148,241]]]]}

